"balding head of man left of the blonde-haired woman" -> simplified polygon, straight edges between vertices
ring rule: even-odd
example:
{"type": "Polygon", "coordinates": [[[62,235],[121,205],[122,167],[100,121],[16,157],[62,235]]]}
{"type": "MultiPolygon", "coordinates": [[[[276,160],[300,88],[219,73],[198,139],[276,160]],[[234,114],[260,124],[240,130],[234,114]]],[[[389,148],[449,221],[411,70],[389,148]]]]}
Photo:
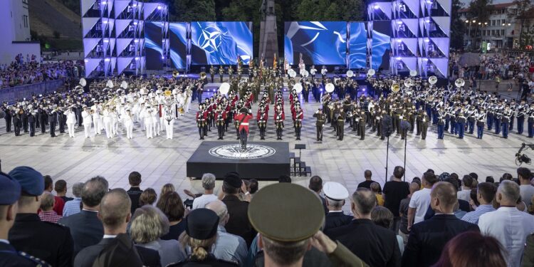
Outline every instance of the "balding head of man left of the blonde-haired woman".
{"type": "Polygon", "coordinates": [[[107,229],[117,229],[130,220],[132,201],[124,189],[112,189],[100,202],[98,214],[107,229]]]}

